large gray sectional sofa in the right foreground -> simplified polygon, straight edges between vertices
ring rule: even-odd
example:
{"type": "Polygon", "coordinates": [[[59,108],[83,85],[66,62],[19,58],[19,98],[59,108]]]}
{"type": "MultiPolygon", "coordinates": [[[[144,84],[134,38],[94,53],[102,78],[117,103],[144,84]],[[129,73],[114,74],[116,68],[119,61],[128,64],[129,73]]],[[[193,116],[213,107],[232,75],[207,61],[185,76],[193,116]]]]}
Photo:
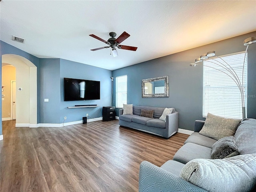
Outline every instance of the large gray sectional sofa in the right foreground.
{"type": "MultiPolygon", "coordinates": [[[[231,140],[239,154],[223,159],[211,159],[213,148],[224,139],[200,134],[204,123],[196,120],[194,133],[173,160],[161,167],[147,161],[140,164],[139,192],[256,191],[256,120],[240,122],[231,140]]],[[[220,149],[221,155],[226,149],[220,149]]]]}

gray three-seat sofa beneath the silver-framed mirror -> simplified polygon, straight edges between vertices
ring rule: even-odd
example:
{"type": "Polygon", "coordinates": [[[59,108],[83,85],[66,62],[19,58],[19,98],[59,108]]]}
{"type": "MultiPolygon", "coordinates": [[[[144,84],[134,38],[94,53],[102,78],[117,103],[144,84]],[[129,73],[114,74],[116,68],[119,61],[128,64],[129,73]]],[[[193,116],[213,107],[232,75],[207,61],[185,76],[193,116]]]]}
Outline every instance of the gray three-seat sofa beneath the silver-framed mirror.
{"type": "Polygon", "coordinates": [[[166,115],[166,122],[160,120],[165,108],[148,107],[148,106],[133,106],[132,115],[123,115],[123,109],[119,110],[119,125],[136,130],[148,132],[169,138],[176,132],[179,127],[179,113],[173,108],[172,113],[166,115]],[[141,110],[154,110],[153,118],[140,116],[141,110]]]}

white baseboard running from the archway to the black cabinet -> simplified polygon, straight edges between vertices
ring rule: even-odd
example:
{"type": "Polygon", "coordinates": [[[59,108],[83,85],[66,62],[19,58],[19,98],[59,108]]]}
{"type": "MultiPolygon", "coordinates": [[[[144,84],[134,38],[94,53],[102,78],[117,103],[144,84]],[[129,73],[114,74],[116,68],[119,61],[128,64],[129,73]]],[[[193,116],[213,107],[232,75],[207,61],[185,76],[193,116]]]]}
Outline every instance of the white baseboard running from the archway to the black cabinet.
{"type": "MultiPolygon", "coordinates": [[[[93,121],[100,121],[102,120],[102,117],[98,118],[93,118],[93,119],[88,119],[87,123],[93,122],[93,121]]],[[[64,122],[63,123],[38,123],[38,124],[27,124],[27,123],[16,123],[16,127],[30,127],[30,128],[38,128],[38,127],[63,127],[63,126],[68,126],[68,125],[75,125],[75,124],[80,124],[83,123],[82,120],[80,121],[73,121],[73,122],[64,122]]]]}

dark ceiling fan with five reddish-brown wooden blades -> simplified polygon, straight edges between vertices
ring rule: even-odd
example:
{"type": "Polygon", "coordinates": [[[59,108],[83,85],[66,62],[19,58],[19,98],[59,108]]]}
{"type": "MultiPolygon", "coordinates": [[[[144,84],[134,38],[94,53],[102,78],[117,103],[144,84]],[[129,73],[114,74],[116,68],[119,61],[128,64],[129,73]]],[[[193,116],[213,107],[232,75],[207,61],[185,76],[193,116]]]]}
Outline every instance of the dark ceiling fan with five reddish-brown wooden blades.
{"type": "Polygon", "coordinates": [[[96,50],[100,50],[100,49],[104,49],[104,48],[109,48],[111,47],[110,50],[110,54],[112,52],[113,57],[118,56],[116,47],[119,49],[126,49],[126,50],[131,50],[131,51],[136,51],[138,47],[132,47],[132,46],[126,46],[126,45],[120,45],[120,43],[122,43],[124,40],[126,40],[128,37],[130,37],[130,35],[128,33],[126,33],[125,31],[118,37],[115,38],[116,33],[115,32],[110,32],[109,33],[110,37],[107,41],[99,38],[98,36],[94,35],[94,34],[90,34],[89,36],[96,38],[106,44],[108,44],[108,46],[105,47],[100,47],[100,48],[96,48],[96,49],[91,49],[91,51],[96,51],[96,50]]]}

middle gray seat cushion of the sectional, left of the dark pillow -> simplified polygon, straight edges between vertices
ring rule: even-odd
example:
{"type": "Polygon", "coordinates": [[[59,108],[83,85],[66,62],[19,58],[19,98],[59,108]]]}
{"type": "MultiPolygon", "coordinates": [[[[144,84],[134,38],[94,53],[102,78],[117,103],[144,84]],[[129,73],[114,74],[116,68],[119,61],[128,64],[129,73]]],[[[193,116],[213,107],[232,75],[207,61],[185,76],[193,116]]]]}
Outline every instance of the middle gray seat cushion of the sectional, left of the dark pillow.
{"type": "Polygon", "coordinates": [[[196,158],[210,159],[211,154],[211,148],[194,143],[186,143],[176,152],[173,160],[186,164],[196,158]]]}

